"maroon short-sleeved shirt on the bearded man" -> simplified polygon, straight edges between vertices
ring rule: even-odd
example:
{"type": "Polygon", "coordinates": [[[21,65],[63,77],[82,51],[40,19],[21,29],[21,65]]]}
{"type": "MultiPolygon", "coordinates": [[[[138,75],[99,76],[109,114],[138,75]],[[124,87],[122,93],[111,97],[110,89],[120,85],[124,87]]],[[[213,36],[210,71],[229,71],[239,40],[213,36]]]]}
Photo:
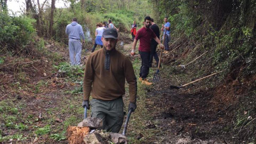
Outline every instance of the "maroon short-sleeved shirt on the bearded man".
{"type": "Polygon", "coordinates": [[[142,27],[136,33],[135,39],[139,40],[139,51],[150,52],[151,39],[155,38],[155,33],[146,27],[142,27]]]}

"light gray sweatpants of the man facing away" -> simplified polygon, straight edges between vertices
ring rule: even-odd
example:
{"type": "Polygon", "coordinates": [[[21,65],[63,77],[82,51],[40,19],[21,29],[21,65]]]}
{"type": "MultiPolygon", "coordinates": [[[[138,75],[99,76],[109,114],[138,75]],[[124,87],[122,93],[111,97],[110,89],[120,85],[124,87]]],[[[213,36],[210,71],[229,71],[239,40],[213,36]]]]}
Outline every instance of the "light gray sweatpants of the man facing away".
{"type": "Polygon", "coordinates": [[[81,61],[82,43],[79,39],[69,39],[69,58],[71,65],[79,65],[81,61]],[[75,60],[74,60],[75,55],[75,60]]]}

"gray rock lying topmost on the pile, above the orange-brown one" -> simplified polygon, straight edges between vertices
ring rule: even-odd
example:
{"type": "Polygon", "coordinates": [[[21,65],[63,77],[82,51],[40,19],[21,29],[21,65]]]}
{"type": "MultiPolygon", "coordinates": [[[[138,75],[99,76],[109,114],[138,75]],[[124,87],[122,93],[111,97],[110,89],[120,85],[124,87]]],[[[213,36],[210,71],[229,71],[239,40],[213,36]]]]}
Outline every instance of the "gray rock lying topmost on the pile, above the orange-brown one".
{"type": "Polygon", "coordinates": [[[90,128],[100,128],[100,127],[102,127],[102,119],[89,117],[89,118],[84,119],[82,122],[78,123],[77,126],[78,127],[88,126],[90,128]]]}

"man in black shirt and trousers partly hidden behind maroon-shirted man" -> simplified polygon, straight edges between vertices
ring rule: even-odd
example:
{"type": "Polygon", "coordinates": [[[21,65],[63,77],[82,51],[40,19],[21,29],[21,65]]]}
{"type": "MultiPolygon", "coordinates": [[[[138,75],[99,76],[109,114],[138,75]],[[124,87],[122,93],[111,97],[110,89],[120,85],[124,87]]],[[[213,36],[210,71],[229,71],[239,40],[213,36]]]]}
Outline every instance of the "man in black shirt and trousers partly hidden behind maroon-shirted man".
{"type": "MultiPolygon", "coordinates": [[[[159,38],[159,36],[160,36],[159,27],[154,23],[153,18],[151,18],[150,29],[153,30],[155,35],[159,38]]],[[[150,48],[150,62],[149,62],[150,67],[152,67],[153,57],[155,58],[155,61],[157,62],[157,66],[158,66],[159,58],[158,58],[158,55],[157,55],[157,52],[156,52],[157,45],[158,45],[158,43],[154,39],[152,39],[151,40],[151,48],[150,48]]]]}

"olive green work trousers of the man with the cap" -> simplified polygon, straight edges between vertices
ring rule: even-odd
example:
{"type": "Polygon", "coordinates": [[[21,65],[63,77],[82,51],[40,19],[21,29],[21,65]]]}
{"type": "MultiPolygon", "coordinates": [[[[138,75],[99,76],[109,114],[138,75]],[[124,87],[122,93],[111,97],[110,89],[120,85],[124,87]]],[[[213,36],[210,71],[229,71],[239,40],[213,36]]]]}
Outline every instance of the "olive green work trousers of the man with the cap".
{"type": "Polygon", "coordinates": [[[123,124],[123,98],[117,98],[111,101],[92,99],[91,117],[102,119],[102,129],[107,132],[118,133],[123,124]]]}

